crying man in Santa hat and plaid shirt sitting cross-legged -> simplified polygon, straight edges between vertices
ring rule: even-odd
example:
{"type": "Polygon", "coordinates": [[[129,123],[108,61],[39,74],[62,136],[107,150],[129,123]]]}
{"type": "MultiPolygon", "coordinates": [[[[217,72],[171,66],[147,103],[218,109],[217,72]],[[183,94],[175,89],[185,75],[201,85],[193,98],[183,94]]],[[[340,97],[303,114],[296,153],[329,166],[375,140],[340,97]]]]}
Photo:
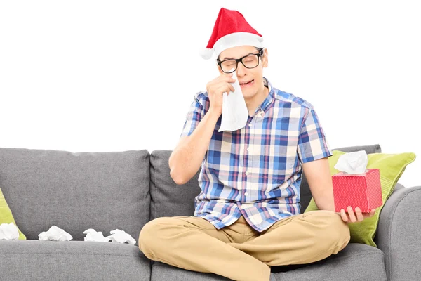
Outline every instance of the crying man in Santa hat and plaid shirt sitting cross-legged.
{"type": "Polygon", "coordinates": [[[201,192],[194,216],[156,218],[142,228],[139,247],[149,259],[232,280],[275,280],[270,266],[337,254],[349,242],[347,222],[373,216],[359,209],[335,213],[332,153],[319,119],[310,103],[263,77],[262,42],[241,13],[220,10],[202,53],[218,56],[220,75],[194,96],[168,163],[178,184],[201,167],[201,192]],[[222,93],[234,91],[232,69],[248,120],[219,132],[222,93]],[[320,211],[300,214],[302,172],[320,211]]]}

